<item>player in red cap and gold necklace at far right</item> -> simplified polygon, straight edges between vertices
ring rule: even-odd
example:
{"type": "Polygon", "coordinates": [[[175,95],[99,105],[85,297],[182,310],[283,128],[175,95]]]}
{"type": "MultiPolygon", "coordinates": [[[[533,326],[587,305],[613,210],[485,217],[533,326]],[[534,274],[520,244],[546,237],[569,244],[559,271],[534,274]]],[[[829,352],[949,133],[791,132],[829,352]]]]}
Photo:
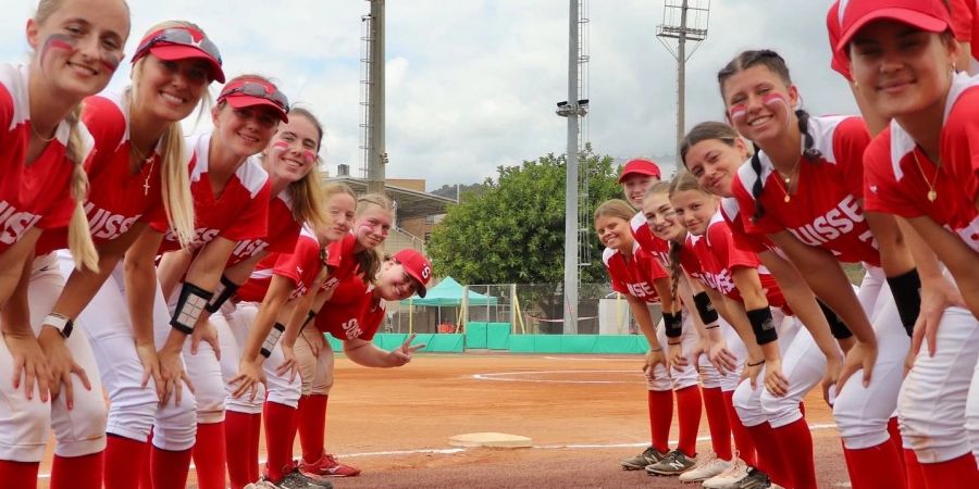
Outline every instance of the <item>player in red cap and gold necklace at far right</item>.
{"type": "Polygon", "coordinates": [[[857,91],[891,118],[864,154],[867,210],[901,216],[927,237],[930,252],[915,256],[919,268],[938,260],[971,311],[953,300],[940,322],[916,326],[913,352],[922,338],[927,348],[917,351],[897,409],[916,455],[905,457],[920,463],[927,487],[979,485],[979,89],[956,73],[962,48],[953,24],[938,0],[851,1],[835,47],[857,91]]]}

